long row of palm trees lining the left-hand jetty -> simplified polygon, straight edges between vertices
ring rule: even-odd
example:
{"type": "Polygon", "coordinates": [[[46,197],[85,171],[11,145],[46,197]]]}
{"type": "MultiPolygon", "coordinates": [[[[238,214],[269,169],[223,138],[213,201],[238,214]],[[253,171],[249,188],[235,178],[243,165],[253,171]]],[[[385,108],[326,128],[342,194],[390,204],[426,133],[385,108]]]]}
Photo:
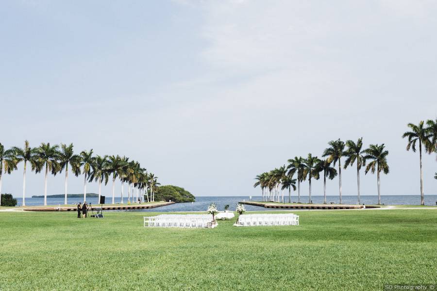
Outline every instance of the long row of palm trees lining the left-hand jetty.
{"type": "Polygon", "coordinates": [[[47,205],[47,178],[49,172],[52,175],[65,171],[65,204],[67,204],[68,192],[68,171],[78,177],[84,175],[84,201],[86,200],[87,182],[97,181],[99,185],[99,200],[101,196],[101,184],[108,183],[112,177],[112,204],[115,204],[115,182],[118,178],[121,181],[121,203],[123,202],[124,183],[128,185],[128,202],[134,202],[134,190],[136,190],[136,200],[140,198],[144,202],[144,196],[147,202],[155,200],[155,192],[160,183],[158,177],[148,173],[142,168],[139,162],[130,161],[125,156],[100,156],[94,155],[93,150],[84,150],[80,154],[75,154],[73,144],[50,145],[42,143],[38,147],[30,147],[29,142],[24,142],[24,147],[13,146],[10,149],[4,149],[0,143],[0,193],[2,183],[2,173],[10,174],[17,170],[17,165],[23,162],[23,203],[25,206],[26,194],[26,168],[30,163],[32,171],[39,173],[45,172],[44,175],[44,205],[47,205]],[[131,195],[132,190],[132,195],[131,195]],[[145,195],[143,195],[145,194],[145,195]]]}

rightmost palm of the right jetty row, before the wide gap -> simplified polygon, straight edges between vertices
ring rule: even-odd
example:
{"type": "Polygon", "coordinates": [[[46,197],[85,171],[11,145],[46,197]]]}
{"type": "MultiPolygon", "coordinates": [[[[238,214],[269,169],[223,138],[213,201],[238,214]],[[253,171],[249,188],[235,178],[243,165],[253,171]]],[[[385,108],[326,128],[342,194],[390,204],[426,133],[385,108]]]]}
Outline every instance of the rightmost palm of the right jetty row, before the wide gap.
{"type": "Polygon", "coordinates": [[[384,144],[382,145],[370,145],[368,149],[364,150],[364,153],[366,154],[364,156],[364,159],[371,160],[370,163],[366,166],[365,173],[367,174],[369,171],[372,172],[372,174],[377,173],[377,183],[378,183],[378,205],[381,204],[381,180],[380,180],[380,173],[381,171],[384,172],[384,174],[388,174],[388,164],[387,164],[387,156],[388,156],[388,150],[385,150],[384,144]]]}

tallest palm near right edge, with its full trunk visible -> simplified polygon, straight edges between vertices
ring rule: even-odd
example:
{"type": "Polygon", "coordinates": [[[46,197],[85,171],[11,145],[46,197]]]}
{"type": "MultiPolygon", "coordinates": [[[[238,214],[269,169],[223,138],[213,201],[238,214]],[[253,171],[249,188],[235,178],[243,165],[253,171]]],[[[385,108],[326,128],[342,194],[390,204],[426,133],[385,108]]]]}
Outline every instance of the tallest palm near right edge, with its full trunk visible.
{"type": "Polygon", "coordinates": [[[424,126],[424,122],[421,120],[419,125],[408,123],[408,127],[411,131],[403,133],[402,138],[408,138],[406,150],[413,150],[416,152],[416,142],[419,141],[419,162],[420,162],[420,205],[425,205],[424,193],[423,193],[423,170],[422,170],[422,144],[426,150],[431,153],[431,133],[424,126]]]}

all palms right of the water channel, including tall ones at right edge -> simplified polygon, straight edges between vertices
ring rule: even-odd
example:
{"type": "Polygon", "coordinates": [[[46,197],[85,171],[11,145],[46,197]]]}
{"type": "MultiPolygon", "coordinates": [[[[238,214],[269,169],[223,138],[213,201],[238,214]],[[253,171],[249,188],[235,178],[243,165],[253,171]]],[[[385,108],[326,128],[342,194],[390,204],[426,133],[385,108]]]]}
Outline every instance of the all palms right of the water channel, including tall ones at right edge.
{"type": "MultiPolygon", "coordinates": [[[[409,123],[409,131],[403,133],[403,138],[408,138],[407,150],[412,149],[416,152],[416,144],[419,144],[420,153],[420,204],[424,205],[423,193],[423,170],[422,170],[422,146],[428,154],[437,153],[437,119],[420,121],[418,125],[409,123]]],[[[365,168],[365,174],[371,172],[377,174],[378,204],[381,204],[381,172],[388,174],[389,167],[387,163],[388,151],[385,145],[370,145],[369,148],[363,149],[363,139],[357,142],[352,140],[344,143],[340,139],[330,141],[329,147],[323,151],[321,160],[308,154],[307,158],[295,157],[288,160],[287,166],[275,168],[269,172],[256,176],[254,187],[260,186],[263,201],[280,202],[280,190],[282,190],[282,202],[284,202],[284,190],[288,189],[288,202],[291,202],[291,189],[298,189],[298,202],[300,202],[301,182],[308,179],[309,202],[311,203],[311,178],[319,179],[323,175],[323,203],[326,203],[326,178],[334,179],[338,176],[338,188],[341,199],[341,159],[345,158],[343,168],[356,164],[357,180],[357,202],[360,202],[360,170],[365,168]],[[369,161],[369,163],[368,163],[369,161]],[[338,171],[335,166],[338,164],[338,171]],[[332,166],[333,165],[333,166],[332,166]],[[296,174],[296,178],[293,178],[296,174]]],[[[434,178],[437,179],[437,173],[434,178]]]]}

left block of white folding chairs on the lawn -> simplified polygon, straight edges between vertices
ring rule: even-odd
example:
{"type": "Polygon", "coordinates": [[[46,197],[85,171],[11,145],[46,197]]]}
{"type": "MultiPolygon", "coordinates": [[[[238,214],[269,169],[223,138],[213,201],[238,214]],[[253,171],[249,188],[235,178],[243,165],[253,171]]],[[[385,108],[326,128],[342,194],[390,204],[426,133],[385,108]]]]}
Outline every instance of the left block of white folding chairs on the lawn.
{"type": "Polygon", "coordinates": [[[189,227],[209,228],[214,227],[211,214],[161,214],[157,216],[144,216],[144,227],[189,227]]]}

